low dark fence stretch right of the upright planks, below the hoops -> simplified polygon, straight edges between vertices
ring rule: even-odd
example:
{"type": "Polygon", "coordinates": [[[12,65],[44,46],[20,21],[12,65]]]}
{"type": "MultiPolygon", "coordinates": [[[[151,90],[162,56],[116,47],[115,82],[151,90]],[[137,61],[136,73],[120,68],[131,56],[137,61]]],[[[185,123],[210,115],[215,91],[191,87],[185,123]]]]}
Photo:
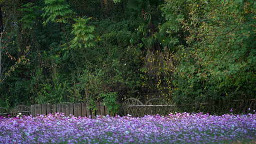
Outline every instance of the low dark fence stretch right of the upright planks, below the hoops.
{"type": "MultiPolygon", "coordinates": [[[[246,114],[255,113],[256,99],[244,99],[233,101],[219,101],[217,103],[197,103],[183,105],[147,105],[140,104],[138,100],[133,100],[135,105],[122,105],[119,108],[119,115],[130,114],[134,117],[143,117],[145,115],[167,115],[174,112],[189,112],[189,113],[209,113],[211,115],[223,115],[227,113],[246,114]],[[231,111],[230,111],[231,110],[231,111]]],[[[157,101],[159,102],[159,101],[157,101]]],[[[156,103],[157,104],[157,103],[156,103]]]]}

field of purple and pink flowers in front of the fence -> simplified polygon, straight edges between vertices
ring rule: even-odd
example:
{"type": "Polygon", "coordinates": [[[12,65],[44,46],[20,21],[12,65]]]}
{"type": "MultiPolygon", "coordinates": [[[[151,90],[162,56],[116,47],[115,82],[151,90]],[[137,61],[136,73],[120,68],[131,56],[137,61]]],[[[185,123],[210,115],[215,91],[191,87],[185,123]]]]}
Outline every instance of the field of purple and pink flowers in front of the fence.
{"type": "Polygon", "coordinates": [[[0,144],[229,144],[255,139],[256,114],[0,118],[0,144]]]}

